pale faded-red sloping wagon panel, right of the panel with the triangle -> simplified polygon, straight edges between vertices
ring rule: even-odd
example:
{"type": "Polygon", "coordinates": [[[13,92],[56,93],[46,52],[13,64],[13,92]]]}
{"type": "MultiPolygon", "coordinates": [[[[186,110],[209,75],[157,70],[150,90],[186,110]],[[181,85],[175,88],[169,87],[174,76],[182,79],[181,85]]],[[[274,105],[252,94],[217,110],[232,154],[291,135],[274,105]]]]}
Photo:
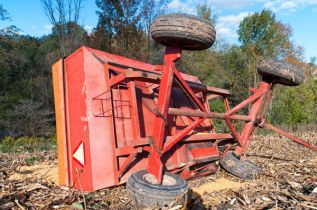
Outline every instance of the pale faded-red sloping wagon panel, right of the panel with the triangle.
{"type": "MultiPolygon", "coordinates": [[[[100,101],[93,98],[105,92],[106,80],[104,66],[86,48],[84,52],[85,84],[83,92],[86,95],[86,116],[89,131],[89,155],[91,157],[91,177],[94,190],[115,185],[112,166],[111,128],[105,117],[96,117],[100,113],[100,101]]],[[[106,104],[104,104],[106,105],[106,104]]]]}

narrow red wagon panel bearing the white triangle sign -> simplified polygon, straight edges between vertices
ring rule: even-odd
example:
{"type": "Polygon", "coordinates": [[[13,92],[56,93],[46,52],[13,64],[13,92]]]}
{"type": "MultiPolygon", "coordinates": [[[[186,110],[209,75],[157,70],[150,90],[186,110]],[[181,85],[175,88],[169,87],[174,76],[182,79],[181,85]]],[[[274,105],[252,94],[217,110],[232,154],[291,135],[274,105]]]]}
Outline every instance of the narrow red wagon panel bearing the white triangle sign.
{"type": "Polygon", "coordinates": [[[84,191],[93,191],[83,50],[84,48],[80,48],[65,59],[70,185],[84,191]],[[74,154],[78,151],[77,149],[82,148],[84,161],[80,163],[74,158],[74,154]]]}

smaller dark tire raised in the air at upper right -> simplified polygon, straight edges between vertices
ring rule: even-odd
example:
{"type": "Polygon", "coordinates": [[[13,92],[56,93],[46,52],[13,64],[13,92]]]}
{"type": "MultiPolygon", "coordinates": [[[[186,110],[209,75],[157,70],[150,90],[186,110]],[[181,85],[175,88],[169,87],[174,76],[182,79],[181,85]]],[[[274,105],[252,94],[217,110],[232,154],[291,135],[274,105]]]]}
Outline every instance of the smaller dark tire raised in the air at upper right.
{"type": "Polygon", "coordinates": [[[287,86],[297,86],[304,82],[304,71],[297,66],[273,59],[262,60],[257,67],[264,80],[287,86]]]}

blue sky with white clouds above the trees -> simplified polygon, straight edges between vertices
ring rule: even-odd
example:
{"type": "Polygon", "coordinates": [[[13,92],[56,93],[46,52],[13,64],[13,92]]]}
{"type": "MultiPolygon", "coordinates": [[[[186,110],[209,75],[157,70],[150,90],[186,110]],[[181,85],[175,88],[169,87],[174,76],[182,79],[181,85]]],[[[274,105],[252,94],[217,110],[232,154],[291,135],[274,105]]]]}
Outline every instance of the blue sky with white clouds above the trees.
{"type": "MultiPolygon", "coordinates": [[[[293,28],[292,39],[305,49],[306,60],[317,57],[317,0],[171,0],[170,12],[195,13],[197,4],[207,3],[217,16],[217,39],[237,43],[237,28],[247,15],[271,9],[278,20],[293,28]]],[[[23,34],[42,36],[50,33],[51,24],[40,0],[0,0],[11,21],[0,22],[0,28],[16,25],[23,34]]],[[[95,0],[86,0],[81,23],[90,31],[97,23],[95,0]]]]}

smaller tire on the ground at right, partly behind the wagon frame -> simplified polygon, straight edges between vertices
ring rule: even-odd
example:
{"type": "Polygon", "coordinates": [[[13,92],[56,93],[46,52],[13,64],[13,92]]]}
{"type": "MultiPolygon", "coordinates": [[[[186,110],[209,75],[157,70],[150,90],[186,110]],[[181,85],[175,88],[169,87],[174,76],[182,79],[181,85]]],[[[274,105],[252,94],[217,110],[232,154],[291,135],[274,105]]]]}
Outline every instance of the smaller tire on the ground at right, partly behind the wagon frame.
{"type": "Polygon", "coordinates": [[[259,176],[262,169],[250,161],[241,161],[232,152],[228,152],[220,159],[220,165],[230,174],[241,179],[252,180],[259,176]]]}

